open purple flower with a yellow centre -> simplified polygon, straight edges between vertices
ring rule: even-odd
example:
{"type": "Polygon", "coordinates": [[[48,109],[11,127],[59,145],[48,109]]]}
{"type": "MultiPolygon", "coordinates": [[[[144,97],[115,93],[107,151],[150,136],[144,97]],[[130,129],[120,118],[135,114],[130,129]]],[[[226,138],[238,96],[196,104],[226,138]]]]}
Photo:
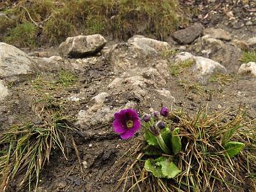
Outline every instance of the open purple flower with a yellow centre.
{"type": "Polygon", "coordinates": [[[114,132],[120,134],[122,139],[129,139],[139,130],[141,123],[136,110],[127,109],[114,113],[114,132]]]}

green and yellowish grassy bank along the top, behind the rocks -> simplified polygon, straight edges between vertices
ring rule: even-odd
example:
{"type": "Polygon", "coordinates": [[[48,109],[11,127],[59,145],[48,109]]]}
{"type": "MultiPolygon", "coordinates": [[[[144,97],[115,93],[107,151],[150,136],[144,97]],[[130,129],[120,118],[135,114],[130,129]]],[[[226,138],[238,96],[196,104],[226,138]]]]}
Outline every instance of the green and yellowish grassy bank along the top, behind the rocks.
{"type": "Polygon", "coordinates": [[[10,7],[6,14],[16,16],[21,24],[9,30],[5,41],[15,44],[16,33],[29,32],[27,38],[31,38],[26,38],[30,43],[18,42],[18,46],[33,46],[35,33],[39,36],[36,42],[39,44],[60,43],[68,36],[80,33],[112,34],[124,40],[135,33],[142,33],[164,39],[178,24],[185,22],[176,0],[20,0],[10,7]],[[24,23],[29,30],[20,26],[24,23]]]}

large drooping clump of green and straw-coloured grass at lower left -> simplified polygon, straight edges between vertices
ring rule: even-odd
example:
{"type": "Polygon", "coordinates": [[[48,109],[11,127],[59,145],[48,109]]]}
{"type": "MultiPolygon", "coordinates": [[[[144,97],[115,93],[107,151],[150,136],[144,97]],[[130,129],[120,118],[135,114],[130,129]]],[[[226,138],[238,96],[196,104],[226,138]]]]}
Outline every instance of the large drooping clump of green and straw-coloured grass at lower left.
{"type": "Polygon", "coordinates": [[[31,182],[36,178],[38,186],[39,175],[43,167],[49,163],[53,149],[60,149],[65,156],[63,143],[66,134],[72,131],[68,119],[49,100],[41,100],[33,105],[33,110],[42,120],[42,124],[17,124],[0,136],[0,189],[6,188],[19,175],[18,186],[31,182]]]}

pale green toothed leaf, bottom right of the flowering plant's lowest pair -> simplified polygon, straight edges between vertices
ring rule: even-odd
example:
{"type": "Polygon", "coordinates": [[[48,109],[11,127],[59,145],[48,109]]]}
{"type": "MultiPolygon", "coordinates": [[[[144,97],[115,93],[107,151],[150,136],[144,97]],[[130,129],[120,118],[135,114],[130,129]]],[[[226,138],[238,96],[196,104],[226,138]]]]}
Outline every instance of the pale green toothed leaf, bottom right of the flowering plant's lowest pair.
{"type": "Polygon", "coordinates": [[[169,161],[169,159],[156,162],[156,165],[161,166],[161,174],[165,178],[174,178],[181,172],[181,170],[178,169],[174,162],[169,161]]]}

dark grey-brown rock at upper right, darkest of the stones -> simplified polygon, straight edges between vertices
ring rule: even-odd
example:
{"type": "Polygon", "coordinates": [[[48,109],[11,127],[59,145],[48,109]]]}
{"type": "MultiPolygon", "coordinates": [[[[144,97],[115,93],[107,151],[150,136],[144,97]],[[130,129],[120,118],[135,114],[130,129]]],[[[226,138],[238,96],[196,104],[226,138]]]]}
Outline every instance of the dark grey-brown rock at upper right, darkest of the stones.
{"type": "Polygon", "coordinates": [[[173,35],[174,41],[181,44],[192,43],[196,38],[198,38],[203,31],[203,26],[201,23],[195,23],[188,28],[176,31],[173,35]]]}

